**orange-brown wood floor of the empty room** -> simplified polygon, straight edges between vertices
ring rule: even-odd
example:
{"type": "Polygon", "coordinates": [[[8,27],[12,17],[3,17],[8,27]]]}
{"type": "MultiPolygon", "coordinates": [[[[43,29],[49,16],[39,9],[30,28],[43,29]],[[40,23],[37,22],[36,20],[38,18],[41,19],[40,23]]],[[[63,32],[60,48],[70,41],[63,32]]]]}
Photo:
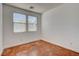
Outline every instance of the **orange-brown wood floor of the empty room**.
{"type": "MultiPolygon", "coordinates": [[[[44,55],[46,55],[48,53],[47,51],[50,49],[52,56],[54,55],[55,56],[79,56],[78,52],[72,51],[71,49],[64,48],[63,46],[51,43],[46,40],[36,40],[22,45],[13,46],[13,47],[4,49],[2,56],[17,56],[16,54],[18,54],[18,52],[21,52],[20,53],[21,55],[26,54],[25,51],[23,52],[23,49],[27,51],[31,51],[30,49],[32,49],[33,47],[38,47],[39,49],[37,49],[37,51],[40,51],[41,53],[43,52],[44,55]]],[[[39,52],[39,55],[40,55],[40,52],[39,52]]]]}

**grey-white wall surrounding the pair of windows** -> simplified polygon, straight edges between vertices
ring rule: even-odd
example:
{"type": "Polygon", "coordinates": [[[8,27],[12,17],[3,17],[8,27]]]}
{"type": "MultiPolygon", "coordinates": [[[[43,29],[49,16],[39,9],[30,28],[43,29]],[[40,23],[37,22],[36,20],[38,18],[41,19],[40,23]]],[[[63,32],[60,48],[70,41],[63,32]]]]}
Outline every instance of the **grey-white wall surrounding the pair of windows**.
{"type": "Polygon", "coordinates": [[[40,29],[40,14],[30,13],[29,11],[24,11],[18,8],[4,5],[3,6],[3,39],[4,39],[4,48],[12,47],[19,44],[25,44],[41,37],[40,29]],[[20,12],[24,14],[31,14],[38,17],[38,31],[37,32],[24,32],[24,33],[14,33],[13,32],[13,13],[20,12]]]}

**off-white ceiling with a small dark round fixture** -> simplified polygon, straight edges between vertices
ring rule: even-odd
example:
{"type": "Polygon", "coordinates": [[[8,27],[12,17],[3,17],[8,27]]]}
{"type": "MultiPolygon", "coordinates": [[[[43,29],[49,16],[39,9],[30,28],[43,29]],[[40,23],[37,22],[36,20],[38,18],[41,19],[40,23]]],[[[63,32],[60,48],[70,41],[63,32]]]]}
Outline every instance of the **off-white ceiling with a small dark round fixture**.
{"type": "Polygon", "coordinates": [[[8,5],[12,5],[15,7],[19,7],[22,9],[26,9],[38,13],[44,13],[50,9],[60,6],[61,3],[8,3],[8,5]]]}

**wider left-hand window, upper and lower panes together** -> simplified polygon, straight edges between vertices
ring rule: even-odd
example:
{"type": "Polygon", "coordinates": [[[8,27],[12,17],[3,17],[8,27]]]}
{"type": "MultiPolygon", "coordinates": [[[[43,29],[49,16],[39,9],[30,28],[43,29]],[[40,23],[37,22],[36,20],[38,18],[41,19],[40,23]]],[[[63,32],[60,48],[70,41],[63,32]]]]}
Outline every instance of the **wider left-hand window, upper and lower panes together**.
{"type": "Polygon", "coordinates": [[[26,15],[13,13],[14,32],[26,31],[26,15]]]}

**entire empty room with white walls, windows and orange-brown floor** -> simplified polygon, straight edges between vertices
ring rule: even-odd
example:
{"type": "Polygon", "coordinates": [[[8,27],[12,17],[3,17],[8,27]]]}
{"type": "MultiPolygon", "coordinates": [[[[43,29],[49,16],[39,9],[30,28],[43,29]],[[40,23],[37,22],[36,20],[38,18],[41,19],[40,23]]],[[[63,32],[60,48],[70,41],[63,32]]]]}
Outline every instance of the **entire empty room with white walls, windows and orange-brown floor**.
{"type": "Polygon", "coordinates": [[[1,56],[79,56],[79,3],[0,3],[1,56]]]}

